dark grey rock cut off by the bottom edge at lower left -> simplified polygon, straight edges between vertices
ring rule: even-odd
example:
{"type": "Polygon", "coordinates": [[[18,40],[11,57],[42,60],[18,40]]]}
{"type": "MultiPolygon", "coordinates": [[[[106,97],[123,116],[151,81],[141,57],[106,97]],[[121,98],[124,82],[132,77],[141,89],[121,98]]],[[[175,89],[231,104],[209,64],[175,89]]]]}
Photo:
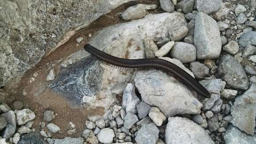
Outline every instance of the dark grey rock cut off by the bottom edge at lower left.
{"type": "Polygon", "coordinates": [[[45,143],[41,134],[38,132],[34,132],[34,133],[21,135],[18,144],[45,144],[45,143]]]}

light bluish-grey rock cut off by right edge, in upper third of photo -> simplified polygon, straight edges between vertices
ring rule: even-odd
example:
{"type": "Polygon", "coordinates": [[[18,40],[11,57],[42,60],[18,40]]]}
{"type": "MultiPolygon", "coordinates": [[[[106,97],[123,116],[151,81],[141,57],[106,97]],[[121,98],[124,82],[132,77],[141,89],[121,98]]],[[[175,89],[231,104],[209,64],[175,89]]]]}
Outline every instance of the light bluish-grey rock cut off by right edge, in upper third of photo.
{"type": "Polygon", "coordinates": [[[243,34],[240,39],[239,39],[239,44],[242,47],[246,47],[248,44],[251,45],[256,45],[256,32],[252,31],[252,32],[247,32],[245,34],[243,34]]]}

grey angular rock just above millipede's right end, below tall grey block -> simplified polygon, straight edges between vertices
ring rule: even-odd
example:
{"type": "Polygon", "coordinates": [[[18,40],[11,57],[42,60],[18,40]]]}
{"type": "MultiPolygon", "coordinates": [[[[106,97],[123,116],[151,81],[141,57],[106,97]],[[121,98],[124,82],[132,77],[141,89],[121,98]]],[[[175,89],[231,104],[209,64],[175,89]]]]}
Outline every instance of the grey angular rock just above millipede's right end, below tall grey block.
{"type": "Polygon", "coordinates": [[[190,63],[190,70],[195,74],[196,78],[205,78],[209,75],[209,68],[200,62],[190,63]]]}

